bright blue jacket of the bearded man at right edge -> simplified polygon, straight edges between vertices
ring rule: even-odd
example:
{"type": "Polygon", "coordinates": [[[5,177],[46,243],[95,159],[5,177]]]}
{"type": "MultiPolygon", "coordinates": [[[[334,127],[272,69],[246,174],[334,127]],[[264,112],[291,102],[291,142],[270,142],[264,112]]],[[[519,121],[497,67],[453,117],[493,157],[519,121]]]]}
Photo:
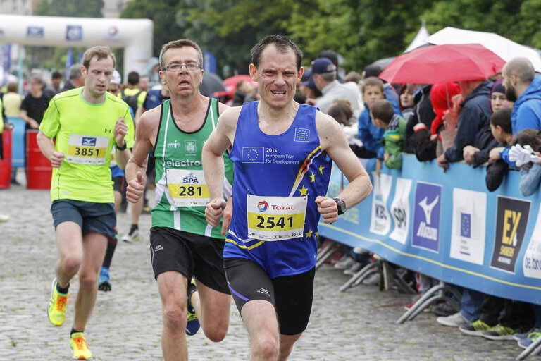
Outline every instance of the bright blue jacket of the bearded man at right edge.
{"type": "Polygon", "coordinates": [[[511,113],[513,135],[523,129],[541,129],[541,78],[533,78],[526,91],[516,99],[511,113]]]}

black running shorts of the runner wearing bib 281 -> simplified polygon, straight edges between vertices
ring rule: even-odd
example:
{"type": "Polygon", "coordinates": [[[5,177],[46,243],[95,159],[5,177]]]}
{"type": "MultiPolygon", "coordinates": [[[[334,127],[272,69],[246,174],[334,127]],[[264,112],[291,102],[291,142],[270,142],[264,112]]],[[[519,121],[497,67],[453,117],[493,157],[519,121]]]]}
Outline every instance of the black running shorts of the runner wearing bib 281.
{"type": "Polygon", "coordinates": [[[223,245],[219,238],[178,231],[168,227],[150,228],[150,257],[154,278],[178,271],[218,292],[230,294],[223,269],[223,245]]]}

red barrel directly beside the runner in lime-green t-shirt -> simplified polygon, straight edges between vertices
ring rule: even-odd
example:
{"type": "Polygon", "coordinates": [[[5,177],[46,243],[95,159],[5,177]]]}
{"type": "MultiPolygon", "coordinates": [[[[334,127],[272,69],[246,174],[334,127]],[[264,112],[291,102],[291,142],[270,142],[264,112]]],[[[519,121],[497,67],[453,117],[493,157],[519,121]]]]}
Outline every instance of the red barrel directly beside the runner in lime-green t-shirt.
{"type": "Polygon", "coordinates": [[[50,189],[53,167],[37,145],[37,129],[26,130],[26,188],[50,189]]]}

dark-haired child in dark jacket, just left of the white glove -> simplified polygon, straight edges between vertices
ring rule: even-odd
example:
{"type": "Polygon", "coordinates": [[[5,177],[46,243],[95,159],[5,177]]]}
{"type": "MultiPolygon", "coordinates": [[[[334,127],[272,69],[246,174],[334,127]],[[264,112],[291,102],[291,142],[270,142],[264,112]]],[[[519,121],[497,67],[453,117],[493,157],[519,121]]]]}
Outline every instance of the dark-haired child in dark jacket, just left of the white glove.
{"type": "Polygon", "coordinates": [[[509,171],[509,165],[503,161],[499,153],[502,152],[507,144],[513,138],[511,130],[511,108],[502,108],[495,111],[490,116],[490,130],[494,139],[497,140],[497,147],[493,148],[489,153],[490,162],[487,166],[487,176],[485,181],[487,183],[487,189],[490,192],[494,192],[502,184],[504,176],[509,171]]]}

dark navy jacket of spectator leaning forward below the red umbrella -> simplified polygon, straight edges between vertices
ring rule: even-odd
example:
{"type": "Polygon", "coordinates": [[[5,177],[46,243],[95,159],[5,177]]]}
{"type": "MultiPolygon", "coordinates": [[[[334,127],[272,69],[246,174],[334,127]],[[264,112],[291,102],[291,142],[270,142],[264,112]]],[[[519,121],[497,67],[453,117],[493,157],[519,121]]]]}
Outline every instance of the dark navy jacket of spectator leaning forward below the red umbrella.
{"type": "Polygon", "coordinates": [[[449,162],[464,159],[462,149],[466,145],[475,144],[477,133],[490,122],[490,87],[492,82],[486,80],[471,92],[462,103],[459,125],[456,128],[456,138],[453,146],[445,151],[445,160],[449,162]]]}

